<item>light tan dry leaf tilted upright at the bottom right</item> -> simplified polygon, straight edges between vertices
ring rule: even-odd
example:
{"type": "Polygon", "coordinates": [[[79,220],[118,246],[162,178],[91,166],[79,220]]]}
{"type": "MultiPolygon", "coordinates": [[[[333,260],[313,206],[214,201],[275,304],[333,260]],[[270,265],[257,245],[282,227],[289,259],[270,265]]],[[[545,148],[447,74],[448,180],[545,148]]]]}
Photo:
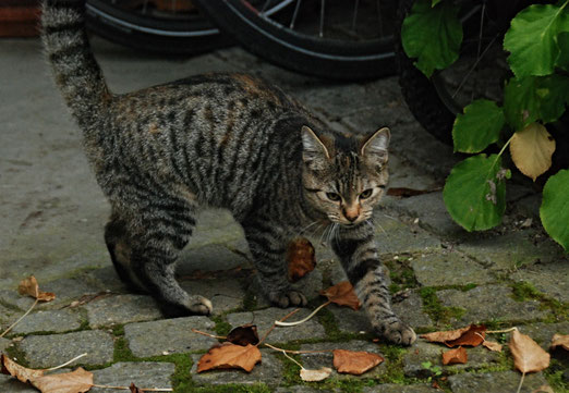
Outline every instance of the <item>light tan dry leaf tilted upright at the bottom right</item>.
{"type": "Polygon", "coordinates": [[[541,371],[549,367],[549,354],[542,349],[529,335],[514,330],[510,337],[513,365],[521,372],[541,371]]]}

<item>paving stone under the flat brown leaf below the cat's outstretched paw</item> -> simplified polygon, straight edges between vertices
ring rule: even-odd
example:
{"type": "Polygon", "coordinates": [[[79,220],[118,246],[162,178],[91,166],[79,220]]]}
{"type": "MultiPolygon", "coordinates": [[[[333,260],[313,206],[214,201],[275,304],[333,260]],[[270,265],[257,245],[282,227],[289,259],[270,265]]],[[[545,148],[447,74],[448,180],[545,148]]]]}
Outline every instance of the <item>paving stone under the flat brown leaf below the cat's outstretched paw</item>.
{"type": "MultiPolygon", "coordinates": [[[[350,342],[343,343],[317,343],[317,344],[303,344],[300,347],[301,351],[332,351],[332,349],[349,349],[349,351],[365,351],[372,354],[382,355],[379,352],[379,347],[377,344],[367,342],[353,340],[350,342]]],[[[311,370],[317,370],[322,367],[329,367],[332,369],[332,372],[329,378],[336,378],[340,380],[359,380],[363,378],[376,378],[384,376],[387,371],[386,363],[383,361],[373,369],[361,376],[351,376],[347,373],[339,373],[336,371],[334,367],[334,354],[331,352],[326,353],[314,353],[314,354],[301,354],[299,355],[301,358],[301,364],[304,368],[311,370]]]]}

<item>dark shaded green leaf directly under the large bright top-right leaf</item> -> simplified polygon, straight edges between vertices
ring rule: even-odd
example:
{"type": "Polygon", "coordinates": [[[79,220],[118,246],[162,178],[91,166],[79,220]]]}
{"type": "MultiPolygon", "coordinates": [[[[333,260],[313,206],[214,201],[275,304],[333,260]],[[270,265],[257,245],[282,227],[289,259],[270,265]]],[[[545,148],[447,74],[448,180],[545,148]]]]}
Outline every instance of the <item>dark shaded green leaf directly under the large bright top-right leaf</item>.
{"type": "Polygon", "coordinates": [[[504,88],[504,114],[514,131],[536,120],[550,123],[565,112],[569,77],[553,74],[511,78],[504,88]]]}

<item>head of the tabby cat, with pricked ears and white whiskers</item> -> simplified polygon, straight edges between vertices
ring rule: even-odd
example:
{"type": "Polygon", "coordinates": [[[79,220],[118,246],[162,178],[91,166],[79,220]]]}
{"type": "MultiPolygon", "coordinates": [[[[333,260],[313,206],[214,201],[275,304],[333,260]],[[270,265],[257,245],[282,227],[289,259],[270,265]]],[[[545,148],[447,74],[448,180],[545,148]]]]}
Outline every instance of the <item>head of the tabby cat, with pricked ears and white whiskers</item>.
{"type": "Polygon", "coordinates": [[[373,214],[388,181],[389,130],[366,137],[302,127],[302,182],[308,204],[331,222],[356,225],[373,214]]]}

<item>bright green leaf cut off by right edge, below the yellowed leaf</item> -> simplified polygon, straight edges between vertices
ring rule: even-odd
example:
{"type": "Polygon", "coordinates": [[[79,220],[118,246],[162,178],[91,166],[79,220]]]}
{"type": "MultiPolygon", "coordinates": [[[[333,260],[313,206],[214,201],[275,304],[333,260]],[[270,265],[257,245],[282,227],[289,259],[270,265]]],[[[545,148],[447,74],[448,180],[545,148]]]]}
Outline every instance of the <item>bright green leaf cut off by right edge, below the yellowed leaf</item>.
{"type": "Polygon", "coordinates": [[[543,228],[566,251],[569,251],[569,170],[549,177],[543,188],[540,217],[543,228]]]}

